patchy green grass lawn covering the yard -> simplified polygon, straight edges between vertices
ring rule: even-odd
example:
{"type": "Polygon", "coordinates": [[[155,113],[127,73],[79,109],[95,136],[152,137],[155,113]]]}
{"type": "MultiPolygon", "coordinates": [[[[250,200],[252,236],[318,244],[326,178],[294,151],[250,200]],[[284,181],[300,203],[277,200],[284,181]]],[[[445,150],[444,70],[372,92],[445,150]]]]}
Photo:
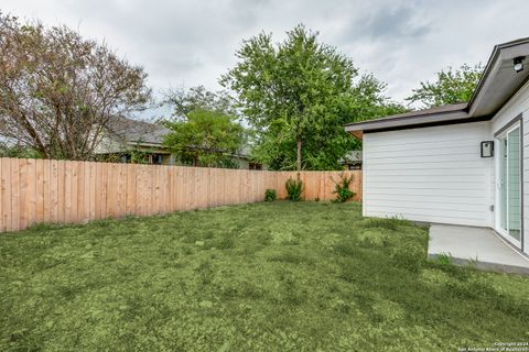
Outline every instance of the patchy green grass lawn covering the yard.
{"type": "Polygon", "coordinates": [[[284,201],[0,235],[1,351],[456,351],[529,340],[529,279],[284,201]]]}

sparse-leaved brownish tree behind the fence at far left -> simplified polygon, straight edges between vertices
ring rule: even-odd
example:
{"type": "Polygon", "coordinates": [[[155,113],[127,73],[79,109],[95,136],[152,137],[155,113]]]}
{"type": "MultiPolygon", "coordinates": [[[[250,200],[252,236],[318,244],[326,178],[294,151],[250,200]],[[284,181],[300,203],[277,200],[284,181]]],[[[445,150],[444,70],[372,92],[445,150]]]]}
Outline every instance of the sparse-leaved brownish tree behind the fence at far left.
{"type": "Polygon", "coordinates": [[[91,160],[115,117],[150,100],[147,74],[66,26],[0,12],[0,139],[46,158],[91,160]]]}

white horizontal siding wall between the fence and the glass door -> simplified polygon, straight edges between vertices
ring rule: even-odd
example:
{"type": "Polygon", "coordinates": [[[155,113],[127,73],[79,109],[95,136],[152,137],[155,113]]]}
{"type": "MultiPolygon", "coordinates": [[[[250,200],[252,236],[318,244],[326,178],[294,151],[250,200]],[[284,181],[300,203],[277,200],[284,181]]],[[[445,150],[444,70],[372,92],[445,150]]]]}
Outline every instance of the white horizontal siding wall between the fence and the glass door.
{"type": "Polygon", "coordinates": [[[364,134],[364,215],[492,226],[488,122],[364,134]]]}

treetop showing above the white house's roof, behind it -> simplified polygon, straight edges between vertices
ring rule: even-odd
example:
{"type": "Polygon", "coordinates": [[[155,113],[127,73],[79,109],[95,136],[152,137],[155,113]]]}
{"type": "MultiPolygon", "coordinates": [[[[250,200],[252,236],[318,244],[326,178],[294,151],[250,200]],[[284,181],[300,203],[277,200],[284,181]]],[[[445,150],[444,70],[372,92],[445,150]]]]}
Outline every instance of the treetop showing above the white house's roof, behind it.
{"type": "Polygon", "coordinates": [[[434,82],[421,81],[421,87],[413,89],[411,97],[406,100],[421,102],[424,108],[466,102],[471,100],[482,75],[482,64],[475,66],[464,64],[460,68],[449,67],[436,73],[434,82]]]}

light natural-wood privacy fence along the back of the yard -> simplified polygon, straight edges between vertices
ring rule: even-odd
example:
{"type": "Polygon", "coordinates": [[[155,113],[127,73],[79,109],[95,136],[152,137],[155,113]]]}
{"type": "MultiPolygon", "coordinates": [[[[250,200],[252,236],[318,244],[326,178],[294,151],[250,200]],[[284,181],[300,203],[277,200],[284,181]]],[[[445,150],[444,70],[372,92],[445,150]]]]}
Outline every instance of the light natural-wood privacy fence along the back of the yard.
{"type": "MultiPolygon", "coordinates": [[[[301,172],[306,200],[333,199],[341,172],[301,172]]],[[[361,172],[352,189],[361,199],[361,172]]],[[[296,172],[0,158],[0,231],[262,201],[296,172]]]]}

